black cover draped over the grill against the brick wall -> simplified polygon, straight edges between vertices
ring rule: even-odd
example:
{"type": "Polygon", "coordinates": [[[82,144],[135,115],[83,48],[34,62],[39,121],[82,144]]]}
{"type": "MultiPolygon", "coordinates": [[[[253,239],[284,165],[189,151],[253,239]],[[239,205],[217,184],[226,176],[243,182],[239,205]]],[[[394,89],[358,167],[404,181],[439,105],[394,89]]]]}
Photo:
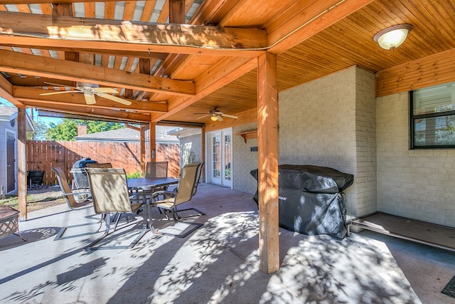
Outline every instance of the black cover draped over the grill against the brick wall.
{"type": "MultiPolygon", "coordinates": [[[[282,164],[279,168],[279,226],[302,234],[346,236],[346,200],[353,174],[328,167],[282,164]]],[[[257,180],[257,169],[251,175],[257,180]]],[[[254,196],[258,203],[257,192],[254,196]]]]}

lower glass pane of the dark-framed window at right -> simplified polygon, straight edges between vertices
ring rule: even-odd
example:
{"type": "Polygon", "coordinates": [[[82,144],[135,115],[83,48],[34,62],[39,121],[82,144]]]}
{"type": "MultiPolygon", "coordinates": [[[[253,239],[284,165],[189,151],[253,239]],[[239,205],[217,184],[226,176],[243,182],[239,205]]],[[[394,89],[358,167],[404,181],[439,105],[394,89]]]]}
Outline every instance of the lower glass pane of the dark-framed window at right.
{"type": "Polygon", "coordinates": [[[414,119],[414,146],[455,145],[455,115],[414,119]]]}

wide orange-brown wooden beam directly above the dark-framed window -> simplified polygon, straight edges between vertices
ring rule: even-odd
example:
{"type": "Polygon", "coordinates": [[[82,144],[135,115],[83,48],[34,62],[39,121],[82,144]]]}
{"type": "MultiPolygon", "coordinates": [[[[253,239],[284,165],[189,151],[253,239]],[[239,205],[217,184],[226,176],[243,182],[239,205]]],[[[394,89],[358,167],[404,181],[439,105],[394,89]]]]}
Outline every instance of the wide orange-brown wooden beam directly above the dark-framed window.
{"type": "Polygon", "coordinates": [[[455,81],[455,48],[376,73],[376,96],[455,81]]]}

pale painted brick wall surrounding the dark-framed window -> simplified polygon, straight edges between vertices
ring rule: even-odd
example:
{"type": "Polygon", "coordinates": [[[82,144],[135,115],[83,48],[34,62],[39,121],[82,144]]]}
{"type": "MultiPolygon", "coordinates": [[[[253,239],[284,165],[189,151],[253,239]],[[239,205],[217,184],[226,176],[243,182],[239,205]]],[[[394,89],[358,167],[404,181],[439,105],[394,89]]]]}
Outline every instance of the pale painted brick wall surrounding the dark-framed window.
{"type": "Polygon", "coordinates": [[[378,210],[455,227],[455,150],[410,150],[408,93],[376,105],[378,210]]]}

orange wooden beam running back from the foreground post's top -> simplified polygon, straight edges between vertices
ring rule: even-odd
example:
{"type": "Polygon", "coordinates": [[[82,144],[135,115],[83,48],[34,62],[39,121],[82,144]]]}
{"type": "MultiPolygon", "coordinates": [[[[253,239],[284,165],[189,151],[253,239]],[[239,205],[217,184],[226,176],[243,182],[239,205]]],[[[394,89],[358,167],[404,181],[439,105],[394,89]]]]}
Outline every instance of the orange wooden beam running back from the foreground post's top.
{"type": "Polygon", "coordinates": [[[176,112],[183,110],[201,98],[215,92],[224,85],[232,82],[250,72],[250,70],[257,67],[257,59],[253,58],[225,58],[217,65],[210,68],[207,72],[196,79],[196,95],[191,97],[178,97],[168,100],[168,112],[164,114],[152,114],[152,121],[159,122],[165,120],[176,112]]]}

